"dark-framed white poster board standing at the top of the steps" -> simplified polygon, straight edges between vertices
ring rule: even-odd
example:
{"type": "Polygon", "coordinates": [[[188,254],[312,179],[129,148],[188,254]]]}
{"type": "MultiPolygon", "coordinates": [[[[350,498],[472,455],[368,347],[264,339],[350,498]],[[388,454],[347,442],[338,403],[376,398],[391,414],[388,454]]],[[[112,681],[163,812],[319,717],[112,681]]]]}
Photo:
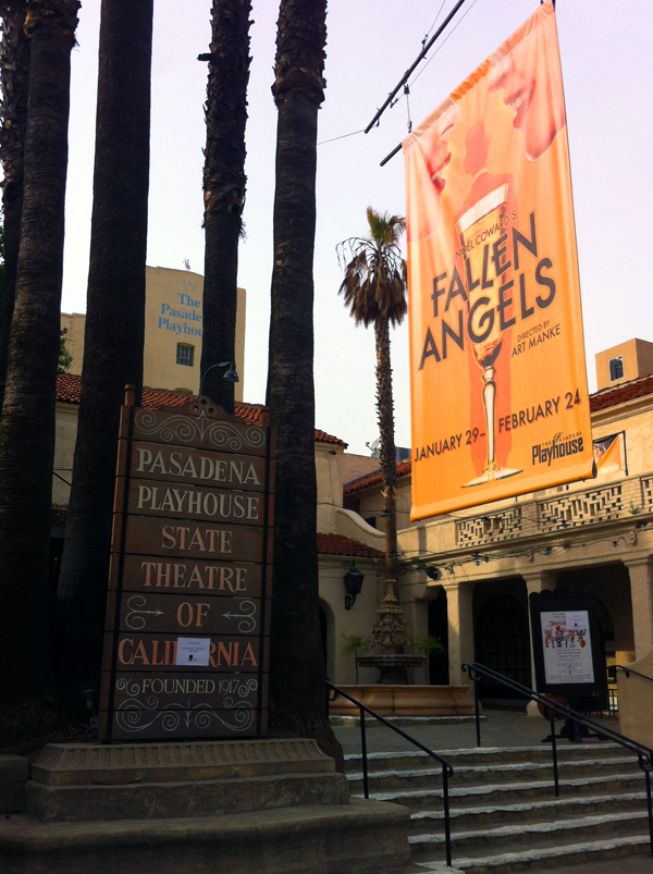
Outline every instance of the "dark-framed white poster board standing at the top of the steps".
{"type": "Polygon", "coordinates": [[[602,688],[594,596],[568,589],[537,592],[530,596],[530,613],[538,691],[569,697],[602,688]]]}

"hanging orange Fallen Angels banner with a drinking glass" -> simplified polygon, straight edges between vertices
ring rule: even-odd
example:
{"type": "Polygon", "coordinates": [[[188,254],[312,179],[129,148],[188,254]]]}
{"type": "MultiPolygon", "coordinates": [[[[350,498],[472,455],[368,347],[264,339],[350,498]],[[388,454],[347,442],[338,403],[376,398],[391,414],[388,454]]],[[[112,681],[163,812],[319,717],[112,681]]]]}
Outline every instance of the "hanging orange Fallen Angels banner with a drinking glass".
{"type": "Polygon", "coordinates": [[[405,140],[412,519],[593,476],[551,0],[405,140]]]}

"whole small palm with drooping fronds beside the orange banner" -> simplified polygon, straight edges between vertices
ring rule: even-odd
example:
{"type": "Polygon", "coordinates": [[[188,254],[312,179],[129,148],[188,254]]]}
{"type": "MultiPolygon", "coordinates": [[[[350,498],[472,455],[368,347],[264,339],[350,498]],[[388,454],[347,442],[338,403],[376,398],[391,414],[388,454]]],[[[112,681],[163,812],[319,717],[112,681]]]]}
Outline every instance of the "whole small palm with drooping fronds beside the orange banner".
{"type": "MultiPolygon", "coordinates": [[[[390,325],[401,324],[406,315],[406,261],[399,250],[399,237],[406,229],[401,216],[367,210],[369,235],[350,237],[337,246],[345,278],[338,290],[356,324],[374,325],[377,343],[377,410],[381,433],[381,471],[383,477],[383,515],[385,517],[386,600],[398,601],[397,550],[397,466],[394,442],[394,404],[390,364],[390,325]],[[349,259],[349,260],[348,260],[349,259]]],[[[397,614],[398,616],[399,614],[397,614]]],[[[401,625],[394,635],[395,647],[405,643],[401,625]]]]}

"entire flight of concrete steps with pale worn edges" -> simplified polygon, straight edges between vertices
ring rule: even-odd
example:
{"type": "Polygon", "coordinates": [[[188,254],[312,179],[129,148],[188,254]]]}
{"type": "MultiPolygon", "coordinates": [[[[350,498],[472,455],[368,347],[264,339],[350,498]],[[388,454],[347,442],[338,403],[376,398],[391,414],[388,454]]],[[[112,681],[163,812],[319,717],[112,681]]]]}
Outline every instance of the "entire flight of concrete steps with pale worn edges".
{"type": "MultiPolygon", "coordinates": [[[[550,744],[443,750],[454,871],[503,874],[649,850],[644,775],[637,758],[608,741],[560,741],[560,797],[550,744]]],[[[362,795],[362,758],[346,756],[353,795],[362,795]]],[[[422,751],[370,753],[370,798],[410,810],[414,863],[442,871],[442,767],[422,751]]],[[[446,870],[446,869],[444,869],[446,870]]],[[[653,872],[653,866],[652,866],[653,872]]]]}

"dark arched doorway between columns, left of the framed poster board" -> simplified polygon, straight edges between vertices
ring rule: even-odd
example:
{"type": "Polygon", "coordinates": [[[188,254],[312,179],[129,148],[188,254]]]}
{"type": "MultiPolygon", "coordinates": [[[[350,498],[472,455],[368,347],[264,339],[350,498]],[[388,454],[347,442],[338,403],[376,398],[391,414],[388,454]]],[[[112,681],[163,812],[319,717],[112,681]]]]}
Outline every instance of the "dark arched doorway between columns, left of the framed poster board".
{"type": "MultiPolygon", "coordinates": [[[[528,616],[517,599],[498,593],[479,613],[476,627],[476,661],[504,677],[531,686],[531,654],[528,616]]],[[[505,686],[482,679],[484,699],[519,698],[505,686]]]]}

